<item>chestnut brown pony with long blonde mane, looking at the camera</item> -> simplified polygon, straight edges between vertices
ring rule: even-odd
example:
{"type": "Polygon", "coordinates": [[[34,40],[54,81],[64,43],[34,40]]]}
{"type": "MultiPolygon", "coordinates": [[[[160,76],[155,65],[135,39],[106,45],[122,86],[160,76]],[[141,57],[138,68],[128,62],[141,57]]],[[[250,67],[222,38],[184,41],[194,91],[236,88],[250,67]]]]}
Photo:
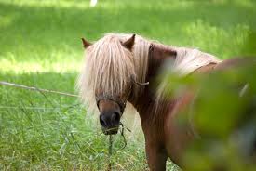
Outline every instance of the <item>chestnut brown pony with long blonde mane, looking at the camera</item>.
{"type": "Polygon", "coordinates": [[[163,69],[179,76],[222,70],[231,62],[195,48],[167,46],[140,35],[107,33],[95,43],[82,38],[86,58],[77,79],[79,95],[85,104],[97,107],[105,135],[117,134],[127,102],[139,112],[150,170],[166,170],[168,157],[183,166],[188,142],[196,138],[192,125],[179,126],[177,115],[194,95],[185,91],[179,97],[165,97],[171,84],[157,81],[163,69]]]}

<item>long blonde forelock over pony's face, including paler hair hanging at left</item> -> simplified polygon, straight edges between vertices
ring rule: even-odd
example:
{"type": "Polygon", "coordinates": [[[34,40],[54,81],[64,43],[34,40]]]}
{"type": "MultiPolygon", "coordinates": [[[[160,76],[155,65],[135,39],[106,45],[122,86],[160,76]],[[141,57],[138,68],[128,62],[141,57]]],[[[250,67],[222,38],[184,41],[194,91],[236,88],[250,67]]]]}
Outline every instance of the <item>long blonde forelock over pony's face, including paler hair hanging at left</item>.
{"type": "Polygon", "coordinates": [[[95,92],[120,96],[136,75],[132,53],[115,34],[107,34],[89,46],[85,66],[78,79],[78,89],[84,102],[95,100],[95,92]]]}

